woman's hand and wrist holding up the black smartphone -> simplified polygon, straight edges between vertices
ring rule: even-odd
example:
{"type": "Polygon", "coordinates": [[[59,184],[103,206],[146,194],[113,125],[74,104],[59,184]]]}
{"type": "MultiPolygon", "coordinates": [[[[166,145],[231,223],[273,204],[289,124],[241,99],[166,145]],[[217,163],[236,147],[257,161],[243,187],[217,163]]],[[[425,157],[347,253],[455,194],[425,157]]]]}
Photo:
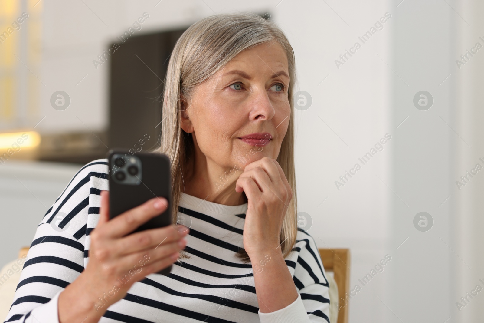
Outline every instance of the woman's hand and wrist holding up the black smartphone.
{"type": "Polygon", "coordinates": [[[99,221],[91,231],[89,262],[59,295],[59,322],[98,322],[107,308],[136,282],[170,266],[186,246],[189,229],[169,225],[128,234],[165,212],[165,198],[154,198],[109,219],[109,192],[101,192],[99,221]],[[128,234],[128,235],[126,235],[128,234]],[[82,298],[82,299],[80,299],[82,298]],[[73,311],[72,304],[81,305],[73,311]]]}

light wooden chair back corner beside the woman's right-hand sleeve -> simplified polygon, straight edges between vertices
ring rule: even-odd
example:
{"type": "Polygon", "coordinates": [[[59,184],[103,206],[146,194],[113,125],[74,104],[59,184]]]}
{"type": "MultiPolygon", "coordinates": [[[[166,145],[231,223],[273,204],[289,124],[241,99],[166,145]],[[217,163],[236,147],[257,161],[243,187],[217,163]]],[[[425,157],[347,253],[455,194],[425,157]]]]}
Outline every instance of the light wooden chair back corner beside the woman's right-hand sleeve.
{"type": "Polygon", "coordinates": [[[349,291],[349,249],[319,248],[319,255],[325,270],[333,271],[334,280],[338,285],[339,314],[337,323],[348,323],[348,303],[346,294],[349,291]]]}

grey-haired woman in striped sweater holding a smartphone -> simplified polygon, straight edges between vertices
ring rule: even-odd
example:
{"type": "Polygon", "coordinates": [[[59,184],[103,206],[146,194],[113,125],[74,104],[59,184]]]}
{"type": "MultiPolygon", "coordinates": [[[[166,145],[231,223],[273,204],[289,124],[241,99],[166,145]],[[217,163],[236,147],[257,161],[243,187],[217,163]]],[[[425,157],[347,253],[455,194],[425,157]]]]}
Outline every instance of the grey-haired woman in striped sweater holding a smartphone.
{"type": "Polygon", "coordinates": [[[92,161],[39,224],[6,322],[329,322],[318,248],[296,223],[294,82],[271,21],[214,15],[188,28],[157,152],[171,160],[173,223],[190,228],[131,233],[166,210],[160,198],[109,220],[107,160],[92,161]]]}

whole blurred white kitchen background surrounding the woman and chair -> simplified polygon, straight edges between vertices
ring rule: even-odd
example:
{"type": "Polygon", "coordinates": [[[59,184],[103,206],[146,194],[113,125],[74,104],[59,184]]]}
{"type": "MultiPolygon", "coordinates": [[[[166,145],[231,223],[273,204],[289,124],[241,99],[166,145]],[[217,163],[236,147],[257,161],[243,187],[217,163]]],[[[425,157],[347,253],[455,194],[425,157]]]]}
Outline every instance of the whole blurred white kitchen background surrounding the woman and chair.
{"type": "Polygon", "coordinates": [[[176,40],[237,11],[294,48],[300,226],[351,250],[349,322],[481,322],[479,0],[0,0],[0,266],[83,164],[157,145],[176,40]]]}

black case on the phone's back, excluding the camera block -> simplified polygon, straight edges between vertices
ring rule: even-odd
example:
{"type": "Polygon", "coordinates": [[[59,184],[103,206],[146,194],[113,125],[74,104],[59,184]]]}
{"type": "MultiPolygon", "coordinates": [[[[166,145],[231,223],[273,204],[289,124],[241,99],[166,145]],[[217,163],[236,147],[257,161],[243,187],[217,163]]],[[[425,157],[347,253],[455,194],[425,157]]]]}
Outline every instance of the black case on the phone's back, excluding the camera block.
{"type": "MultiPolygon", "coordinates": [[[[172,223],[171,221],[171,172],[170,160],[165,154],[157,153],[136,153],[140,159],[141,169],[141,183],[139,185],[124,185],[116,183],[113,180],[114,164],[113,154],[127,154],[126,150],[110,150],[109,151],[109,218],[124,213],[147,200],[154,197],[164,197],[168,200],[168,209],[156,217],[143,223],[138,228],[133,228],[134,232],[143,231],[147,229],[155,229],[166,227],[172,223]]],[[[130,234],[131,234],[130,233],[130,234]]],[[[161,241],[160,241],[161,243],[161,241]]],[[[168,275],[171,271],[171,265],[158,274],[168,275]]]]}

